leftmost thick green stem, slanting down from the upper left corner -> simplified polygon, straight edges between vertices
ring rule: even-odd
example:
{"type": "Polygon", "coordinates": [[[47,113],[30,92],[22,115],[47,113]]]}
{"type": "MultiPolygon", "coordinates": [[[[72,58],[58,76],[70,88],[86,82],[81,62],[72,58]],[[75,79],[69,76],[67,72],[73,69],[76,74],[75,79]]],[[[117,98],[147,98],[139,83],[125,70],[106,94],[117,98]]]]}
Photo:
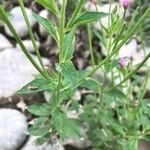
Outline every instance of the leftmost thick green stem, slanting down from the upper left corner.
{"type": "Polygon", "coordinates": [[[18,33],[15,31],[14,27],[12,26],[12,24],[10,23],[6,12],[4,11],[4,9],[2,7],[0,7],[0,18],[4,21],[4,23],[6,23],[7,27],[9,28],[9,30],[11,31],[11,33],[13,34],[15,40],[17,41],[17,43],[20,45],[22,51],[24,52],[24,54],[27,56],[27,58],[30,60],[30,62],[33,64],[33,66],[39,71],[39,73],[41,75],[43,75],[46,79],[47,76],[45,75],[45,73],[43,73],[42,69],[38,66],[38,64],[35,62],[35,60],[32,58],[31,54],[29,53],[29,51],[26,49],[26,47],[24,46],[24,44],[22,43],[22,40],[20,38],[20,36],[18,35],[18,33]]]}

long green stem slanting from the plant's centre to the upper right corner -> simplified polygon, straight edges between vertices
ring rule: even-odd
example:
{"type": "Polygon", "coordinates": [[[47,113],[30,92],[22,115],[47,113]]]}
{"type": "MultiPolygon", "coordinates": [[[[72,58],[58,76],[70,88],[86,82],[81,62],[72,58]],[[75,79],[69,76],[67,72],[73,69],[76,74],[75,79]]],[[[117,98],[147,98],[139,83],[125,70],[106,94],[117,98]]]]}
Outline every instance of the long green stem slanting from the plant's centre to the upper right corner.
{"type": "MultiPolygon", "coordinates": [[[[144,15],[140,18],[140,20],[136,23],[136,25],[132,28],[132,30],[126,34],[126,36],[123,38],[122,42],[103,60],[101,61],[97,66],[95,66],[90,72],[85,74],[78,82],[80,84],[85,78],[91,76],[93,73],[95,73],[103,64],[105,64],[107,61],[111,59],[111,57],[116,54],[120,48],[126,43],[133,35],[134,33],[140,28],[141,24],[144,22],[144,20],[147,18],[147,16],[150,13],[150,8],[146,10],[144,15]]],[[[147,58],[148,59],[148,58],[147,58]]],[[[121,83],[122,84],[122,83],[121,83]]]]}

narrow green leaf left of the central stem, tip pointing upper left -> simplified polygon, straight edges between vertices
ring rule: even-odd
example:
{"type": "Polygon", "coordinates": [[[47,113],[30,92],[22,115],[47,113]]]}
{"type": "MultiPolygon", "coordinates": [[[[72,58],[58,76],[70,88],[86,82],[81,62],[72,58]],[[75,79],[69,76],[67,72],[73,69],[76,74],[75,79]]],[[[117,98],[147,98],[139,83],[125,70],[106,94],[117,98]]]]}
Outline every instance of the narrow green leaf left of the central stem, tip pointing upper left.
{"type": "Polygon", "coordinates": [[[52,21],[43,18],[36,13],[33,13],[34,18],[37,22],[39,22],[49,33],[50,35],[57,41],[57,30],[55,28],[55,25],[52,21]]]}

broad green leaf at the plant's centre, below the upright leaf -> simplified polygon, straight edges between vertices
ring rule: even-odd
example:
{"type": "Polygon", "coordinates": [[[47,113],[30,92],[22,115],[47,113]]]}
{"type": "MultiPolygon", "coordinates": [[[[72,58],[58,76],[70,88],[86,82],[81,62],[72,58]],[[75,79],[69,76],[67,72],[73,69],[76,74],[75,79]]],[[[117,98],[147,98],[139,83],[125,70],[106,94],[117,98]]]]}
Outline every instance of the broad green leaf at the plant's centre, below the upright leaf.
{"type": "Polygon", "coordinates": [[[57,66],[57,71],[63,75],[66,82],[70,83],[71,86],[75,86],[78,83],[78,71],[71,61],[60,63],[57,66]]]}

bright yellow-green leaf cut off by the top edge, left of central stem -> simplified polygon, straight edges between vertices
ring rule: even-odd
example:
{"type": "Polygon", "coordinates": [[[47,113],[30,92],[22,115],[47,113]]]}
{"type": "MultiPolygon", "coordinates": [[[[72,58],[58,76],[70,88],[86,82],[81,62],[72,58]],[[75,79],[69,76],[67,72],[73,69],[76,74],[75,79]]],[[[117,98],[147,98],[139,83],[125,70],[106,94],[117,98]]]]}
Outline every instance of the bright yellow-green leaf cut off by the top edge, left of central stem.
{"type": "Polygon", "coordinates": [[[58,15],[58,7],[55,0],[36,0],[37,3],[58,15]]]}

